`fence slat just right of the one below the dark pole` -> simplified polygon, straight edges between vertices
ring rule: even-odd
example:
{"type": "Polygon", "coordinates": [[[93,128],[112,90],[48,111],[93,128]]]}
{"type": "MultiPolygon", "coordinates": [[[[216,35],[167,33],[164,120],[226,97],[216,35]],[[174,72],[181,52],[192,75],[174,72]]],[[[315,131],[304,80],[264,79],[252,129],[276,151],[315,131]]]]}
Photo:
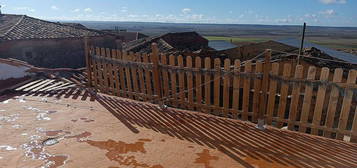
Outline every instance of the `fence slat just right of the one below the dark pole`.
{"type": "MultiPolygon", "coordinates": [[[[316,75],[316,67],[310,66],[309,70],[307,72],[307,80],[314,80],[316,75]]],[[[300,123],[301,125],[299,126],[299,131],[300,132],[306,132],[306,123],[309,119],[309,114],[310,114],[310,108],[311,108],[311,100],[312,100],[312,91],[313,91],[313,86],[311,85],[306,85],[305,86],[305,93],[304,93],[304,100],[302,104],[302,110],[301,110],[301,117],[300,117],[300,123]]]]}

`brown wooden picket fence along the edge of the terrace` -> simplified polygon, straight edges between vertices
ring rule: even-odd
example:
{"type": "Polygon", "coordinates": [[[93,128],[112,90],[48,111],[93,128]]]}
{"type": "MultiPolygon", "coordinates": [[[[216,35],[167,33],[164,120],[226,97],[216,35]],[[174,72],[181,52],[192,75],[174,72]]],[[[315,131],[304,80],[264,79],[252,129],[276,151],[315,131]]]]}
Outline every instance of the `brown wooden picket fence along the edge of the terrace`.
{"type": "Polygon", "coordinates": [[[99,92],[357,142],[356,70],[89,47],[99,92]]]}

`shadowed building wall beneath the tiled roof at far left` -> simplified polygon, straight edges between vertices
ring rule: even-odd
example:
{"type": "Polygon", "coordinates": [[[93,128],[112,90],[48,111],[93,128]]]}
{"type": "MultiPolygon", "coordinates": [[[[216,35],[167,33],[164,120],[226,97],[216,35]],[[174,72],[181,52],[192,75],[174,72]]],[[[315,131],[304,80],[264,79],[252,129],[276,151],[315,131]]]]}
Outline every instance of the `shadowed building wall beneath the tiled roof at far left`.
{"type": "MultiPolygon", "coordinates": [[[[115,37],[91,37],[97,47],[117,48],[115,37]]],[[[85,66],[84,39],[32,39],[0,42],[0,58],[15,58],[45,68],[85,66]]]]}

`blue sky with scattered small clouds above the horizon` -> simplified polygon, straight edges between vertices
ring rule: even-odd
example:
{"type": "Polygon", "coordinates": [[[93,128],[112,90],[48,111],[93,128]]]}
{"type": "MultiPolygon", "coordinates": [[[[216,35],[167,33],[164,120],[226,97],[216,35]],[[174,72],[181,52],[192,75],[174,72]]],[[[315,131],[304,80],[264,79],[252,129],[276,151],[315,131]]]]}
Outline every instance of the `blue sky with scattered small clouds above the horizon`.
{"type": "Polygon", "coordinates": [[[1,0],[3,13],[48,20],[357,27],[357,0],[1,0]]]}

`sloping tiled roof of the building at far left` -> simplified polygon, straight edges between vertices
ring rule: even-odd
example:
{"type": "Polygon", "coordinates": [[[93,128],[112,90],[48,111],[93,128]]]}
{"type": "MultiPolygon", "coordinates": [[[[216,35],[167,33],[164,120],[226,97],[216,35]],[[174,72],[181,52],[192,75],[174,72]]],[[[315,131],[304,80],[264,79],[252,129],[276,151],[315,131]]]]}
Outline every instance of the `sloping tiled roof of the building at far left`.
{"type": "Polygon", "coordinates": [[[57,39],[100,36],[105,33],[61,23],[44,21],[26,15],[0,15],[0,40],[57,39]]]}

